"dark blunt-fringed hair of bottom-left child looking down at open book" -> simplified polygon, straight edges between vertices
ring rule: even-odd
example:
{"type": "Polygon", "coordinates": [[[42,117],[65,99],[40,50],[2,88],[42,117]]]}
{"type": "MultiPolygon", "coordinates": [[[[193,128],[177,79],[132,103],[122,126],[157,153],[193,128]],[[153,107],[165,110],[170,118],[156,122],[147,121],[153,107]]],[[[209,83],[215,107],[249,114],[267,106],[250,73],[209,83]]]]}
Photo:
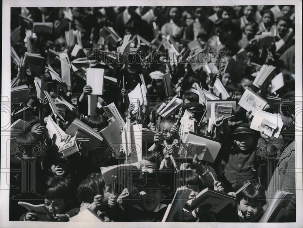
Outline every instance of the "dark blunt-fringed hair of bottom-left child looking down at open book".
{"type": "Polygon", "coordinates": [[[72,182],[68,178],[50,177],[46,181],[48,190],[46,190],[45,198],[48,200],[63,199],[68,202],[72,199],[72,182]]]}

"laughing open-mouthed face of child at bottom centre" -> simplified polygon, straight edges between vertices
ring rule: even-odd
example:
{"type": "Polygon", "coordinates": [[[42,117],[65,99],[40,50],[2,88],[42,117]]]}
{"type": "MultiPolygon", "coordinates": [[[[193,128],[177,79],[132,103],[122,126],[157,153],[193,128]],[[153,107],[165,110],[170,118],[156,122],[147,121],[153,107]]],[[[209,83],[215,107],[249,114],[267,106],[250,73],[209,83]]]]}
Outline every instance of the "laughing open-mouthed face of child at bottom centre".
{"type": "MultiPolygon", "coordinates": [[[[154,185],[154,188],[157,188],[157,185],[154,185]]],[[[161,190],[145,190],[146,194],[142,195],[141,205],[144,210],[154,211],[160,203],[163,201],[164,193],[161,193],[161,190]]]]}

